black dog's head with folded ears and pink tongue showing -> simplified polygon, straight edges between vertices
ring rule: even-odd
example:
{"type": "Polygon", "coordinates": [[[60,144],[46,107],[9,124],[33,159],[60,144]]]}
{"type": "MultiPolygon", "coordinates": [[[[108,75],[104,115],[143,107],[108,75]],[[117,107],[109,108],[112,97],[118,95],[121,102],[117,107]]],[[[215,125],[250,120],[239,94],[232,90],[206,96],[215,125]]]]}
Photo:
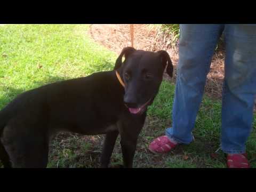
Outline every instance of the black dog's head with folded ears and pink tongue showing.
{"type": "Polygon", "coordinates": [[[150,52],[133,47],[122,50],[114,69],[125,84],[124,103],[130,113],[142,114],[151,105],[163,80],[165,68],[172,77],[173,65],[166,51],[150,52]]]}

